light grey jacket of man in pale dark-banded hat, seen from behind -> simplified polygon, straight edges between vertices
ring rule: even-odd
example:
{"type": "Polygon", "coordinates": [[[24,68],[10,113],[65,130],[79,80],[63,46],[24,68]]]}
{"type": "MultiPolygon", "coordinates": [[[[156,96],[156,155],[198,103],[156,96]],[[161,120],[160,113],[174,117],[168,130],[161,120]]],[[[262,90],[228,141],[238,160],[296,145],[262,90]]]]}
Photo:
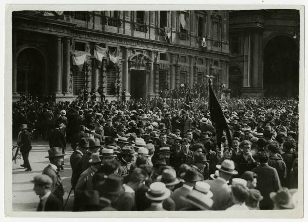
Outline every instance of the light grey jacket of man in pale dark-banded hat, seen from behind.
{"type": "Polygon", "coordinates": [[[210,185],[210,191],[213,193],[214,203],[211,210],[225,210],[233,205],[231,190],[226,180],[218,177],[215,180],[207,179],[205,182],[210,185]]]}

